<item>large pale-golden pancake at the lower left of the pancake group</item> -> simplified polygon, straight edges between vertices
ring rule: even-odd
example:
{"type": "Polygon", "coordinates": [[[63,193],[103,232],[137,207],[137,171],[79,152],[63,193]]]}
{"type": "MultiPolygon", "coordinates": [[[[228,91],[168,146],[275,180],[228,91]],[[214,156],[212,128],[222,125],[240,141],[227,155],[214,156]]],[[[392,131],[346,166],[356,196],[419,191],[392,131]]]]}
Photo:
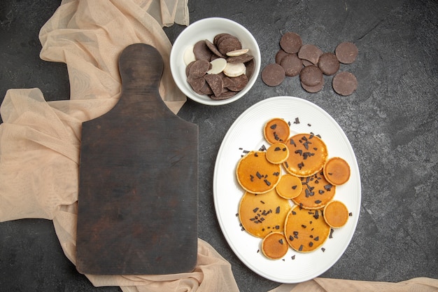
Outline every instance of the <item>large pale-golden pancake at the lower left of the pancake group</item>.
{"type": "Polygon", "coordinates": [[[246,192],[239,204],[239,219],[250,235],[263,238],[271,232],[283,232],[290,208],[289,200],[276,190],[258,195],[246,192]]]}

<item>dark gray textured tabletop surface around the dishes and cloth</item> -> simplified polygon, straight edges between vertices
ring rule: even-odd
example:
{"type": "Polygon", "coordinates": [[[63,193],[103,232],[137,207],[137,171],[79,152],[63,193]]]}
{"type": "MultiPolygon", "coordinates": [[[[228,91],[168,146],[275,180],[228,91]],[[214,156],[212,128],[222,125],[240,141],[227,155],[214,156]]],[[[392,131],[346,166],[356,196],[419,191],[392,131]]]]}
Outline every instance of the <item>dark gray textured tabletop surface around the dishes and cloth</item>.
{"type": "MultiPolygon", "coordinates": [[[[8,88],[38,87],[46,99],[69,96],[64,64],[39,60],[38,32],[59,1],[1,1],[0,100],[8,88]]],[[[351,141],[362,179],[358,228],[344,255],[321,277],[402,281],[438,277],[438,2],[190,0],[190,20],[219,16],[241,23],[274,62],[284,32],[333,51],[359,48],[343,65],[358,78],[353,95],[336,95],[325,76],[310,94],[298,78],[276,88],[260,76],[248,95],[225,106],[188,101],[179,116],[199,125],[199,237],[232,264],[241,291],[278,286],[240,262],[220,232],[213,206],[214,162],[222,138],[249,106],[292,95],[322,107],[351,141]],[[311,3],[309,3],[311,2],[311,3]],[[269,11],[269,13],[268,13],[269,11]]],[[[185,27],[165,29],[173,42],[185,27]]],[[[0,182],[1,183],[1,182],[0,182]]],[[[0,291],[120,291],[95,288],[67,260],[50,221],[0,223],[0,291]]]]}

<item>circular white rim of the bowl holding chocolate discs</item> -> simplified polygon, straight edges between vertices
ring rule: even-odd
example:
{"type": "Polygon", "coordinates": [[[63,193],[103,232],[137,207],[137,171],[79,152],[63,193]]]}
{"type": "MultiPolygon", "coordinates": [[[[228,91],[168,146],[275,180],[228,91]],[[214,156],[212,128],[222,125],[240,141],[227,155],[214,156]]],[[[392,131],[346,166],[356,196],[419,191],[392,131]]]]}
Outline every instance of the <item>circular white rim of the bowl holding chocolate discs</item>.
{"type": "Polygon", "coordinates": [[[257,76],[260,72],[261,55],[260,55],[260,47],[258,46],[257,40],[254,38],[253,34],[251,34],[251,32],[248,29],[246,29],[246,27],[243,27],[243,25],[239,24],[238,22],[235,22],[234,20],[230,20],[228,18],[213,17],[213,18],[202,18],[202,19],[197,20],[197,21],[193,22],[192,24],[188,25],[188,27],[186,27],[175,39],[174,44],[172,45],[172,48],[171,48],[169,60],[170,60],[170,69],[171,69],[172,78],[174,78],[174,82],[176,83],[178,88],[181,90],[181,92],[183,92],[184,95],[186,95],[188,98],[190,98],[190,99],[192,99],[195,102],[198,102],[200,104],[219,106],[219,105],[229,104],[229,103],[235,102],[236,100],[245,96],[246,93],[251,88],[253,88],[253,85],[254,85],[255,81],[257,80],[257,76]],[[178,82],[176,81],[176,76],[177,76],[176,72],[178,71],[178,68],[176,67],[176,62],[172,62],[172,60],[176,59],[176,55],[177,55],[176,49],[174,49],[174,48],[176,48],[175,45],[178,45],[181,42],[181,39],[183,39],[185,32],[187,32],[187,29],[192,28],[192,27],[202,26],[204,22],[212,22],[212,21],[216,21],[216,22],[218,22],[218,24],[227,22],[227,23],[232,24],[236,27],[239,27],[239,29],[241,29],[242,32],[245,32],[247,34],[248,39],[250,40],[251,43],[255,44],[255,48],[256,48],[254,50],[254,52],[251,52],[252,55],[255,57],[255,59],[258,60],[258,62],[256,62],[255,67],[254,67],[253,76],[251,76],[250,80],[248,81],[246,88],[244,88],[243,90],[241,90],[241,92],[234,95],[234,97],[230,97],[229,99],[215,100],[215,99],[199,98],[196,95],[194,95],[193,92],[188,91],[187,88],[178,85],[178,82]]]}

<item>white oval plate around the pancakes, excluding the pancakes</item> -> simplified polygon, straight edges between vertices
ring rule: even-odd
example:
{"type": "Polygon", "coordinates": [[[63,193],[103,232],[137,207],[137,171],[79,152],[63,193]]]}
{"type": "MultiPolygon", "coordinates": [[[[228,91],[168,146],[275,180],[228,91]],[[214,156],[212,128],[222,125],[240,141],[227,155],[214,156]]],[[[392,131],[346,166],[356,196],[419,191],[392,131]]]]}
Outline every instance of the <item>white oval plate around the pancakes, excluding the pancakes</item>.
{"type": "Polygon", "coordinates": [[[213,176],[213,198],[220,228],[236,256],[251,270],[271,281],[299,283],[318,277],[332,267],[353,237],[359,218],[360,197],[358,162],[346,134],[326,111],[304,99],[271,97],[254,104],[234,121],[220,145],[213,176]],[[263,255],[260,250],[262,239],[242,230],[236,216],[244,193],[236,180],[237,162],[244,155],[243,151],[269,146],[262,131],[264,123],[271,118],[290,122],[291,136],[304,132],[319,134],[327,145],[329,158],[344,158],[351,167],[350,179],[337,186],[334,195],[334,199],[344,202],[351,212],[346,225],[335,229],[332,238],[319,249],[299,253],[290,248],[279,260],[269,260],[263,255]]]}

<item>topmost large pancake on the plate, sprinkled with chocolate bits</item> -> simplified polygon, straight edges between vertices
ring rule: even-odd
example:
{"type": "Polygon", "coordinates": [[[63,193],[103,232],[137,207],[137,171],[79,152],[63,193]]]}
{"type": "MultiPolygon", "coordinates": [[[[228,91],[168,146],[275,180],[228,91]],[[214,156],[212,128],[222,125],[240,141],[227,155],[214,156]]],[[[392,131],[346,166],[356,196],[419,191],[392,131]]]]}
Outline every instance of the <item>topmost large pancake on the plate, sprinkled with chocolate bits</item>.
{"type": "Polygon", "coordinates": [[[296,134],[286,142],[289,157],[283,162],[286,171],[295,176],[311,176],[323,169],[327,161],[327,146],[314,134],[296,134]]]}

